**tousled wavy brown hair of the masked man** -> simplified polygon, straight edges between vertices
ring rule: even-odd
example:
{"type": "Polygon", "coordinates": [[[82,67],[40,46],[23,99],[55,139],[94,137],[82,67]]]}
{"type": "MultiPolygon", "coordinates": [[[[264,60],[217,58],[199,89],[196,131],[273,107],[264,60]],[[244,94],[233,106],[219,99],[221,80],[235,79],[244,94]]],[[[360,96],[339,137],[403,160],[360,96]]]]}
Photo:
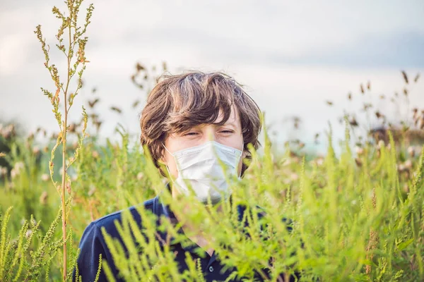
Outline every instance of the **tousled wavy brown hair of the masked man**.
{"type": "MultiPolygon", "coordinates": [[[[238,111],[243,150],[250,159],[247,144],[252,144],[255,149],[260,145],[261,110],[242,85],[225,73],[192,71],[161,76],[141,111],[141,145],[149,150],[155,166],[165,176],[158,160],[163,157],[167,135],[182,133],[202,123],[223,125],[230,118],[232,106],[238,111]],[[223,119],[216,123],[220,110],[223,119]]],[[[247,165],[243,163],[242,175],[246,169],[247,165]]]]}

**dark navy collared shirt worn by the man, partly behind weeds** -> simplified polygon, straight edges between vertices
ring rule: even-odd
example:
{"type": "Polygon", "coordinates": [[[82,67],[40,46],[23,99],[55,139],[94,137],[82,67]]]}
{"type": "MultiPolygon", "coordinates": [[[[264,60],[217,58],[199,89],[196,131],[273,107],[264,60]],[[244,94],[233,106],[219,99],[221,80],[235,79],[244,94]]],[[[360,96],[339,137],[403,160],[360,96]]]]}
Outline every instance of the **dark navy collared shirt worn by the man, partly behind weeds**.
{"type": "MultiPolygon", "coordinates": [[[[146,211],[150,211],[160,219],[160,216],[166,216],[171,220],[171,222],[177,222],[174,214],[170,211],[170,209],[165,206],[165,204],[160,202],[159,197],[155,197],[151,200],[144,202],[144,209],[146,211]]],[[[239,220],[242,220],[244,209],[239,206],[237,207],[239,220]]],[[[136,223],[141,228],[141,216],[137,212],[136,207],[130,207],[129,212],[131,212],[131,216],[136,221],[136,223]]],[[[90,223],[87,226],[86,230],[83,233],[81,238],[81,243],[79,245],[81,249],[81,253],[78,257],[78,272],[79,275],[82,276],[83,281],[94,281],[96,273],[98,271],[99,266],[99,256],[102,255],[102,260],[106,260],[114,277],[117,281],[123,281],[122,278],[119,277],[119,271],[113,263],[112,255],[107,248],[105,243],[105,239],[103,238],[101,228],[104,227],[105,231],[112,238],[122,239],[119,236],[117,228],[115,227],[114,221],[122,220],[122,212],[115,212],[113,214],[109,214],[107,216],[102,217],[96,221],[90,223]]],[[[158,226],[160,222],[157,222],[158,226]]],[[[157,226],[157,227],[158,227],[157,226]]],[[[163,232],[159,233],[160,236],[166,240],[167,235],[163,232]]],[[[179,271],[182,273],[184,269],[187,269],[187,264],[185,263],[185,252],[190,252],[194,259],[199,259],[201,262],[201,269],[204,272],[204,278],[206,281],[225,281],[226,278],[234,271],[234,269],[223,270],[223,264],[220,264],[218,257],[216,257],[215,253],[213,255],[208,255],[207,252],[204,252],[203,256],[199,256],[199,250],[195,252],[197,246],[189,245],[184,247],[181,243],[171,243],[172,250],[175,252],[175,260],[179,264],[179,271]]],[[[74,269],[75,275],[75,269],[74,269]]],[[[259,278],[259,276],[258,276],[259,278]]],[[[291,280],[291,278],[290,278],[291,280]]],[[[100,281],[107,281],[104,272],[102,271],[100,274],[100,281]]],[[[233,280],[237,281],[237,280],[233,280]]],[[[259,280],[260,281],[260,280],[259,280]]]]}

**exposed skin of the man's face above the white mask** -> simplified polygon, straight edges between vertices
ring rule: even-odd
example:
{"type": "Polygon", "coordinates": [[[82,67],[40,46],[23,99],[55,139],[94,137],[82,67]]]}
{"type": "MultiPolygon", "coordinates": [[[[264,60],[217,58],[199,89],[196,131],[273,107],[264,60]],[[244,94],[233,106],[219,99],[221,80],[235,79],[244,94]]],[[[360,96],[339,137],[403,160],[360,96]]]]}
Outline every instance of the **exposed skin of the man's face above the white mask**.
{"type": "MultiPolygon", "coordinates": [[[[222,114],[220,112],[215,122],[221,120],[222,114]]],[[[207,141],[216,141],[222,145],[243,151],[242,125],[238,112],[235,110],[234,106],[231,107],[230,118],[228,118],[228,121],[224,125],[201,124],[190,128],[187,132],[168,135],[165,140],[165,147],[174,154],[179,150],[199,146],[207,141]]],[[[164,149],[163,152],[163,161],[165,165],[167,165],[171,176],[177,178],[178,171],[174,157],[172,157],[170,152],[167,152],[166,149],[164,149]]],[[[238,175],[240,175],[242,171],[242,161],[244,157],[245,153],[243,152],[238,165],[238,175]]]]}

